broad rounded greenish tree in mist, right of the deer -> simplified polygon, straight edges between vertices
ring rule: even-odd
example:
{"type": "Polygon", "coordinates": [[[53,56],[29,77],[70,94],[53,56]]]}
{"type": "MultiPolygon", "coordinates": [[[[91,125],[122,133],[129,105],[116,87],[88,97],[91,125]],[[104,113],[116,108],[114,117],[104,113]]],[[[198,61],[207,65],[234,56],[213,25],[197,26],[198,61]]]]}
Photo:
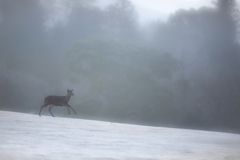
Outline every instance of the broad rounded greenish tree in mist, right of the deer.
{"type": "MultiPolygon", "coordinates": [[[[90,38],[67,52],[71,80],[84,84],[85,114],[117,120],[172,122],[171,54],[107,38],[90,38]]],[[[80,85],[82,87],[82,85],[80,85]]]]}

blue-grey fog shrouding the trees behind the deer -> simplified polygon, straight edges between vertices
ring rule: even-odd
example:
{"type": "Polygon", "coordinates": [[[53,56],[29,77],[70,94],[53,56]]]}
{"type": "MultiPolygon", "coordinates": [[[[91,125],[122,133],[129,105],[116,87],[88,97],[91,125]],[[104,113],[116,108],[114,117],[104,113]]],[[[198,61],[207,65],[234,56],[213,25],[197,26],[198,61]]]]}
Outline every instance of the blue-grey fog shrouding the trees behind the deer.
{"type": "Polygon", "coordinates": [[[0,0],[0,109],[38,114],[74,89],[77,114],[55,116],[239,133],[236,1],[153,11],[159,20],[139,6],[0,0]]]}

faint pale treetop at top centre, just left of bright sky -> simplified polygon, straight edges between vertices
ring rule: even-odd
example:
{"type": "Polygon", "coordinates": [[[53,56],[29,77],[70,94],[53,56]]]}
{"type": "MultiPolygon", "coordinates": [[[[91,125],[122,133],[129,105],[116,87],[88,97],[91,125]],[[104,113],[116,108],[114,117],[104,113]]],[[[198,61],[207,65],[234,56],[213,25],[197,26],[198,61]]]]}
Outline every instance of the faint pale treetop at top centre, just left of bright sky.
{"type": "Polygon", "coordinates": [[[129,0],[117,0],[108,6],[105,17],[104,29],[108,36],[124,41],[139,40],[138,15],[129,0]]]}

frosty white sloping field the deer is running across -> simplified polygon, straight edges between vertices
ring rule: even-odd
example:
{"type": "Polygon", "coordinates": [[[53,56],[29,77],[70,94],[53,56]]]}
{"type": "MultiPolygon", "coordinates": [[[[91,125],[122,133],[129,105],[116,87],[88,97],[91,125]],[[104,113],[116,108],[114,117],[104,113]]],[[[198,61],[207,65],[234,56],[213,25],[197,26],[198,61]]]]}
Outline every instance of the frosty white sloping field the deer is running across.
{"type": "Polygon", "coordinates": [[[0,111],[0,160],[12,159],[240,160],[240,135],[0,111]]]}

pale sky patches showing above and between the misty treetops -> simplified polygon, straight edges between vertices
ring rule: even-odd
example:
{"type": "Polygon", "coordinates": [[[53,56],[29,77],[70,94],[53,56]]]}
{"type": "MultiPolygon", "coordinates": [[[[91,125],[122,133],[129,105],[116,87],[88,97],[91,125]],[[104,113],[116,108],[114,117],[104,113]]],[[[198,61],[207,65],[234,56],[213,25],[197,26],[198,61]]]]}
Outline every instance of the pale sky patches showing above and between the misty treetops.
{"type": "MultiPolygon", "coordinates": [[[[52,0],[54,1],[54,0],[52,0]]],[[[203,6],[213,7],[213,1],[216,0],[130,0],[135,6],[139,15],[141,24],[154,20],[166,21],[171,13],[179,9],[198,9],[203,6]]],[[[237,0],[238,2],[240,0],[237,0]]],[[[42,2],[46,2],[42,0],[42,2]]],[[[48,2],[48,1],[47,1],[48,2]]],[[[52,17],[50,17],[46,26],[52,27],[56,22],[66,23],[67,16],[71,12],[71,8],[66,7],[65,1],[55,1],[56,8],[52,17]]],[[[116,0],[96,0],[95,4],[104,9],[106,6],[115,3],[116,0]]],[[[45,5],[48,6],[48,5],[45,5]]],[[[1,20],[1,18],[0,18],[1,20]]]]}

